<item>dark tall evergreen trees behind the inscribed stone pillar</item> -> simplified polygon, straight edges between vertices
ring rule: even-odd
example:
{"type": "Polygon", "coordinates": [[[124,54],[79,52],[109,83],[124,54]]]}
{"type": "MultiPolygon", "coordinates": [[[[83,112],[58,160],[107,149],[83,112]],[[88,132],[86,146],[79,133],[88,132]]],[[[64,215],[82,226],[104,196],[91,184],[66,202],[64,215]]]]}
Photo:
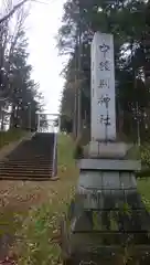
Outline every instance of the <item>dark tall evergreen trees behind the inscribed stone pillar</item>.
{"type": "MultiPolygon", "coordinates": [[[[67,0],[64,4],[58,49],[68,53],[64,68],[65,85],[61,102],[62,127],[76,119],[76,91],[82,92],[83,126],[90,123],[90,43],[96,31],[113,33],[115,39],[115,77],[117,130],[141,138],[150,129],[150,3],[132,0],[67,0]],[[78,30],[81,30],[81,73],[78,72],[78,30]]],[[[64,128],[65,129],[65,128],[64,128]]]]}

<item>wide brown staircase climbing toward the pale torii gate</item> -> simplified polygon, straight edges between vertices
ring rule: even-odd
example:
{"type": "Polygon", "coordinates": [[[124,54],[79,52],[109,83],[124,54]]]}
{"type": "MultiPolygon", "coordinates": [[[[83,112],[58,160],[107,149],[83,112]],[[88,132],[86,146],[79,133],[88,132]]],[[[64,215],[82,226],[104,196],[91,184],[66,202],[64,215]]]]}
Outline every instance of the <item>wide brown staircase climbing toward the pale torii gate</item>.
{"type": "Polygon", "coordinates": [[[0,161],[1,180],[51,180],[56,176],[56,135],[36,132],[0,161]]]}

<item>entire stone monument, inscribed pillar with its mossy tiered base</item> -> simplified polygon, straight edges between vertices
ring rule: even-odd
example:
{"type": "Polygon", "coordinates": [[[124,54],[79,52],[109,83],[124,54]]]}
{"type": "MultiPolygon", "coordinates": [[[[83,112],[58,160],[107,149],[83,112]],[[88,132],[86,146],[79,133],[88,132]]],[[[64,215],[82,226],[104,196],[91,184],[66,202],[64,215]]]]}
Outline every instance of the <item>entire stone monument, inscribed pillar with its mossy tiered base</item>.
{"type": "Polygon", "coordinates": [[[114,255],[122,253],[122,247],[126,246],[127,253],[130,239],[131,247],[139,242],[136,231],[149,231],[150,223],[144,209],[139,214],[143,205],[137,192],[135,171],[140,170],[140,161],[126,159],[130,146],[116,141],[111,34],[97,32],[94,35],[90,91],[88,157],[78,162],[79,179],[68,214],[71,232],[66,233],[64,244],[65,255],[67,253],[74,264],[103,264],[104,256],[106,259],[110,256],[111,263],[114,255]],[[66,242],[69,243],[67,252],[66,242]]]}

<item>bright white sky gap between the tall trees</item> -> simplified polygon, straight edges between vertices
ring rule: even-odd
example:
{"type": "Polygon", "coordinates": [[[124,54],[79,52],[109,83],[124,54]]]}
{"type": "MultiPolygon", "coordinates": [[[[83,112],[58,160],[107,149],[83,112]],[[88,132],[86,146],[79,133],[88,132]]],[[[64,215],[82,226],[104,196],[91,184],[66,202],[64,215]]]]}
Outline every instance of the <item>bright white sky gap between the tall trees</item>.
{"type": "MultiPolygon", "coordinates": [[[[44,1],[44,0],[43,0],[44,1]]],[[[32,78],[40,83],[45,97],[46,110],[58,113],[64,81],[60,76],[63,59],[56,49],[57,30],[61,26],[65,0],[46,0],[49,4],[34,3],[26,21],[32,78]]]]}

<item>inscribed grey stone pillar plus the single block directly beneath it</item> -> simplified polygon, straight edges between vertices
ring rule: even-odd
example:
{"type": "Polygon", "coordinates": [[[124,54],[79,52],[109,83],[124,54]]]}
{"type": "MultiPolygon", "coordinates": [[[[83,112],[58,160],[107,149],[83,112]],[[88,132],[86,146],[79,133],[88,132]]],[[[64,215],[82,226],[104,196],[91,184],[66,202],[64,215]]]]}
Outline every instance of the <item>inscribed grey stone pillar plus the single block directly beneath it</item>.
{"type": "Polygon", "coordinates": [[[92,42],[89,157],[125,157],[130,146],[116,142],[114,36],[96,32],[92,42]]]}

